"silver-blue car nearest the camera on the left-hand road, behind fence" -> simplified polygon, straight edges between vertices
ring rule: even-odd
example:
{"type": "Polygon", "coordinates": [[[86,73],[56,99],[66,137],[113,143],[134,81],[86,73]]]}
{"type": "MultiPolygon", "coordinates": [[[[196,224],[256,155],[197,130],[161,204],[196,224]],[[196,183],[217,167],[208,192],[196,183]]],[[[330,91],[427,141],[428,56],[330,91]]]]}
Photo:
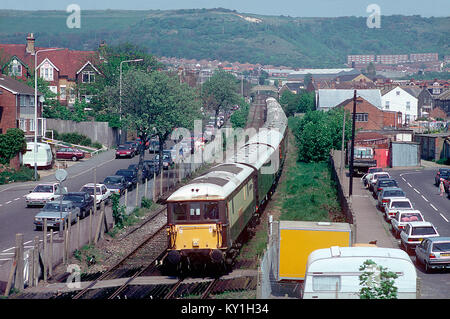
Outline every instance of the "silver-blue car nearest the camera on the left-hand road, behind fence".
{"type": "Polygon", "coordinates": [[[34,216],[34,225],[36,230],[42,229],[44,226],[44,219],[47,218],[47,227],[58,227],[60,223],[64,223],[71,214],[70,222],[76,222],[77,217],[80,216],[80,209],[76,207],[71,201],[62,201],[62,211],[60,201],[52,201],[45,204],[44,208],[34,216]]]}

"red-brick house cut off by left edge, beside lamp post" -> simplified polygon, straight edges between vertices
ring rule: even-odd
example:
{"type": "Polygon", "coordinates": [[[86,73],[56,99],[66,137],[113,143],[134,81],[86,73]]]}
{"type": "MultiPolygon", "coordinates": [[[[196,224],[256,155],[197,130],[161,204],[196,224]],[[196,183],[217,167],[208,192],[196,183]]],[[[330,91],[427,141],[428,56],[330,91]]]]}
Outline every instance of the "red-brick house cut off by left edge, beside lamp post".
{"type": "MultiPolygon", "coordinates": [[[[6,75],[0,75],[0,134],[9,128],[20,128],[28,139],[34,138],[35,96],[34,89],[25,83],[6,75]]],[[[37,134],[45,131],[45,119],[42,118],[42,102],[38,92],[37,101],[37,134]]]]}

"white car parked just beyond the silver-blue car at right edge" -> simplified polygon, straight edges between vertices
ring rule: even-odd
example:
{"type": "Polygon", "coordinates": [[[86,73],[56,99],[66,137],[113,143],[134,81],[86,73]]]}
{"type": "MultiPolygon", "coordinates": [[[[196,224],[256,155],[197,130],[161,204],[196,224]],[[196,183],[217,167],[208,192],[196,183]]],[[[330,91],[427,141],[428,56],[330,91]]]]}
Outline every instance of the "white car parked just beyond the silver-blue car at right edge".
{"type": "Polygon", "coordinates": [[[400,240],[403,249],[407,253],[412,253],[414,248],[425,238],[438,236],[439,233],[430,222],[409,222],[400,233],[400,240]]]}

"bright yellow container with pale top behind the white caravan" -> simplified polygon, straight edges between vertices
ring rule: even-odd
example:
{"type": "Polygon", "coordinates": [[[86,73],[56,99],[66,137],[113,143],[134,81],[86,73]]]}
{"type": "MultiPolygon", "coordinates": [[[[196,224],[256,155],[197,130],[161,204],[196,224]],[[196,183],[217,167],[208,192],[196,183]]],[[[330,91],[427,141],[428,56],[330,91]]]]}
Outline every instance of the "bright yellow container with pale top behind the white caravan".
{"type": "Polygon", "coordinates": [[[280,221],[278,238],[278,280],[303,280],[308,256],[316,249],[352,245],[348,223],[280,221]]]}

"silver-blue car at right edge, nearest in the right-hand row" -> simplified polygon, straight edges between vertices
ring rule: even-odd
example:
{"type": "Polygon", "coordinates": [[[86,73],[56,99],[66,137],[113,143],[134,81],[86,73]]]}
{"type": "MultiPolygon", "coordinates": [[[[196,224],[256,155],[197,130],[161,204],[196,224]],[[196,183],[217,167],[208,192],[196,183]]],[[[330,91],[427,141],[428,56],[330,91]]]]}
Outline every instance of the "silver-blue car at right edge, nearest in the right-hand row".
{"type": "Polygon", "coordinates": [[[416,246],[416,260],[424,264],[425,272],[450,268],[450,237],[425,238],[416,246]]]}

